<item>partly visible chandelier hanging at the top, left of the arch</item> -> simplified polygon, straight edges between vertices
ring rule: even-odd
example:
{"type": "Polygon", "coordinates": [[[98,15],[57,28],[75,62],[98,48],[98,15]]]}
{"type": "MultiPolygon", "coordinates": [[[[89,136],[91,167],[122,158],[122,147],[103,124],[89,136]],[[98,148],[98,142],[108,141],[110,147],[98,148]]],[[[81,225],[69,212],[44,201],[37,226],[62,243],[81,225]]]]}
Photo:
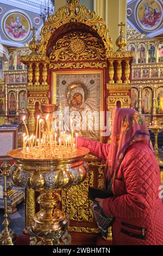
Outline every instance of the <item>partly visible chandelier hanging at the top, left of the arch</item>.
{"type": "Polygon", "coordinates": [[[45,23],[49,16],[51,16],[54,13],[54,0],[45,0],[44,2],[41,2],[40,5],[40,18],[45,23]]]}

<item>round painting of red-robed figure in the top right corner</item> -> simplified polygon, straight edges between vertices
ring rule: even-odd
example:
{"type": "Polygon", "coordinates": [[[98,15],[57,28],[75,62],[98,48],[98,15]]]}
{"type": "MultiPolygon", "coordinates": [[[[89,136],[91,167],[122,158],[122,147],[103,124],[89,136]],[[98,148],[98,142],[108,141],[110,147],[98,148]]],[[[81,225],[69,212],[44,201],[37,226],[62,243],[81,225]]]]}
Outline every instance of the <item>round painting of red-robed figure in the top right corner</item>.
{"type": "Polygon", "coordinates": [[[154,31],[162,25],[162,1],[141,0],[137,3],[135,14],[137,25],[145,31],[154,31]]]}

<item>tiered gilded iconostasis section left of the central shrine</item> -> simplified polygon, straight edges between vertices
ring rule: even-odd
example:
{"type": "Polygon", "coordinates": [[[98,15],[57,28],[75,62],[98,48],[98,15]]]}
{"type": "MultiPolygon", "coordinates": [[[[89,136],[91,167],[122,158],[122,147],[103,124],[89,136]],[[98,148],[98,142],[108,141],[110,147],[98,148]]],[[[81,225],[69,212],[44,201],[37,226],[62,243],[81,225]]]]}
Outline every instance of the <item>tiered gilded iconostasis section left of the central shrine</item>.
{"type": "Polygon", "coordinates": [[[29,54],[29,48],[10,48],[9,60],[4,62],[4,80],[0,82],[0,124],[8,117],[15,119],[20,111],[27,109],[27,66],[21,56],[29,54]]]}

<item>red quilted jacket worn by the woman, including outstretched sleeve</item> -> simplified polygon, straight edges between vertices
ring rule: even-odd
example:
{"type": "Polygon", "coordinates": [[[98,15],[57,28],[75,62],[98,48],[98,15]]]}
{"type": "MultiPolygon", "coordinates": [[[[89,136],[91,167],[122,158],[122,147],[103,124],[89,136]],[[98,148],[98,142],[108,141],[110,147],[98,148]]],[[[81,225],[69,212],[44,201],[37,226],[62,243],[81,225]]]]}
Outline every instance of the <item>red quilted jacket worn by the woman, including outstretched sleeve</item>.
{"type": "MultiPolygon", "coordinates": [[[[78,145],[106,160],[109,144],[79,138],[78,145]]],[[[163,245],[163,205],[159,198],[160,169],[145,142],[131,145],[112,183],[114,197],[103,201],[103,209],[114,216],[114,245],[163,245]]]]}

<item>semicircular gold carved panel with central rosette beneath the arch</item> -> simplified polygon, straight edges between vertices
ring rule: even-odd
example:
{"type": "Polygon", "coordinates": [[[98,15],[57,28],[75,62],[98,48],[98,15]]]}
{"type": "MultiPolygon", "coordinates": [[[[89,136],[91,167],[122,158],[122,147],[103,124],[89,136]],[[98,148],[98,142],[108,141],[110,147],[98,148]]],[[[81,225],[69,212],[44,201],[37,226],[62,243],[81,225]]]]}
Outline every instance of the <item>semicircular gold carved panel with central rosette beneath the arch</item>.
{"type": "Polygon", "coordinates": [[[87,32],[71,32],[59,39],[50,54],[51,61],[105,60],[101,41],[87,32]]]}

